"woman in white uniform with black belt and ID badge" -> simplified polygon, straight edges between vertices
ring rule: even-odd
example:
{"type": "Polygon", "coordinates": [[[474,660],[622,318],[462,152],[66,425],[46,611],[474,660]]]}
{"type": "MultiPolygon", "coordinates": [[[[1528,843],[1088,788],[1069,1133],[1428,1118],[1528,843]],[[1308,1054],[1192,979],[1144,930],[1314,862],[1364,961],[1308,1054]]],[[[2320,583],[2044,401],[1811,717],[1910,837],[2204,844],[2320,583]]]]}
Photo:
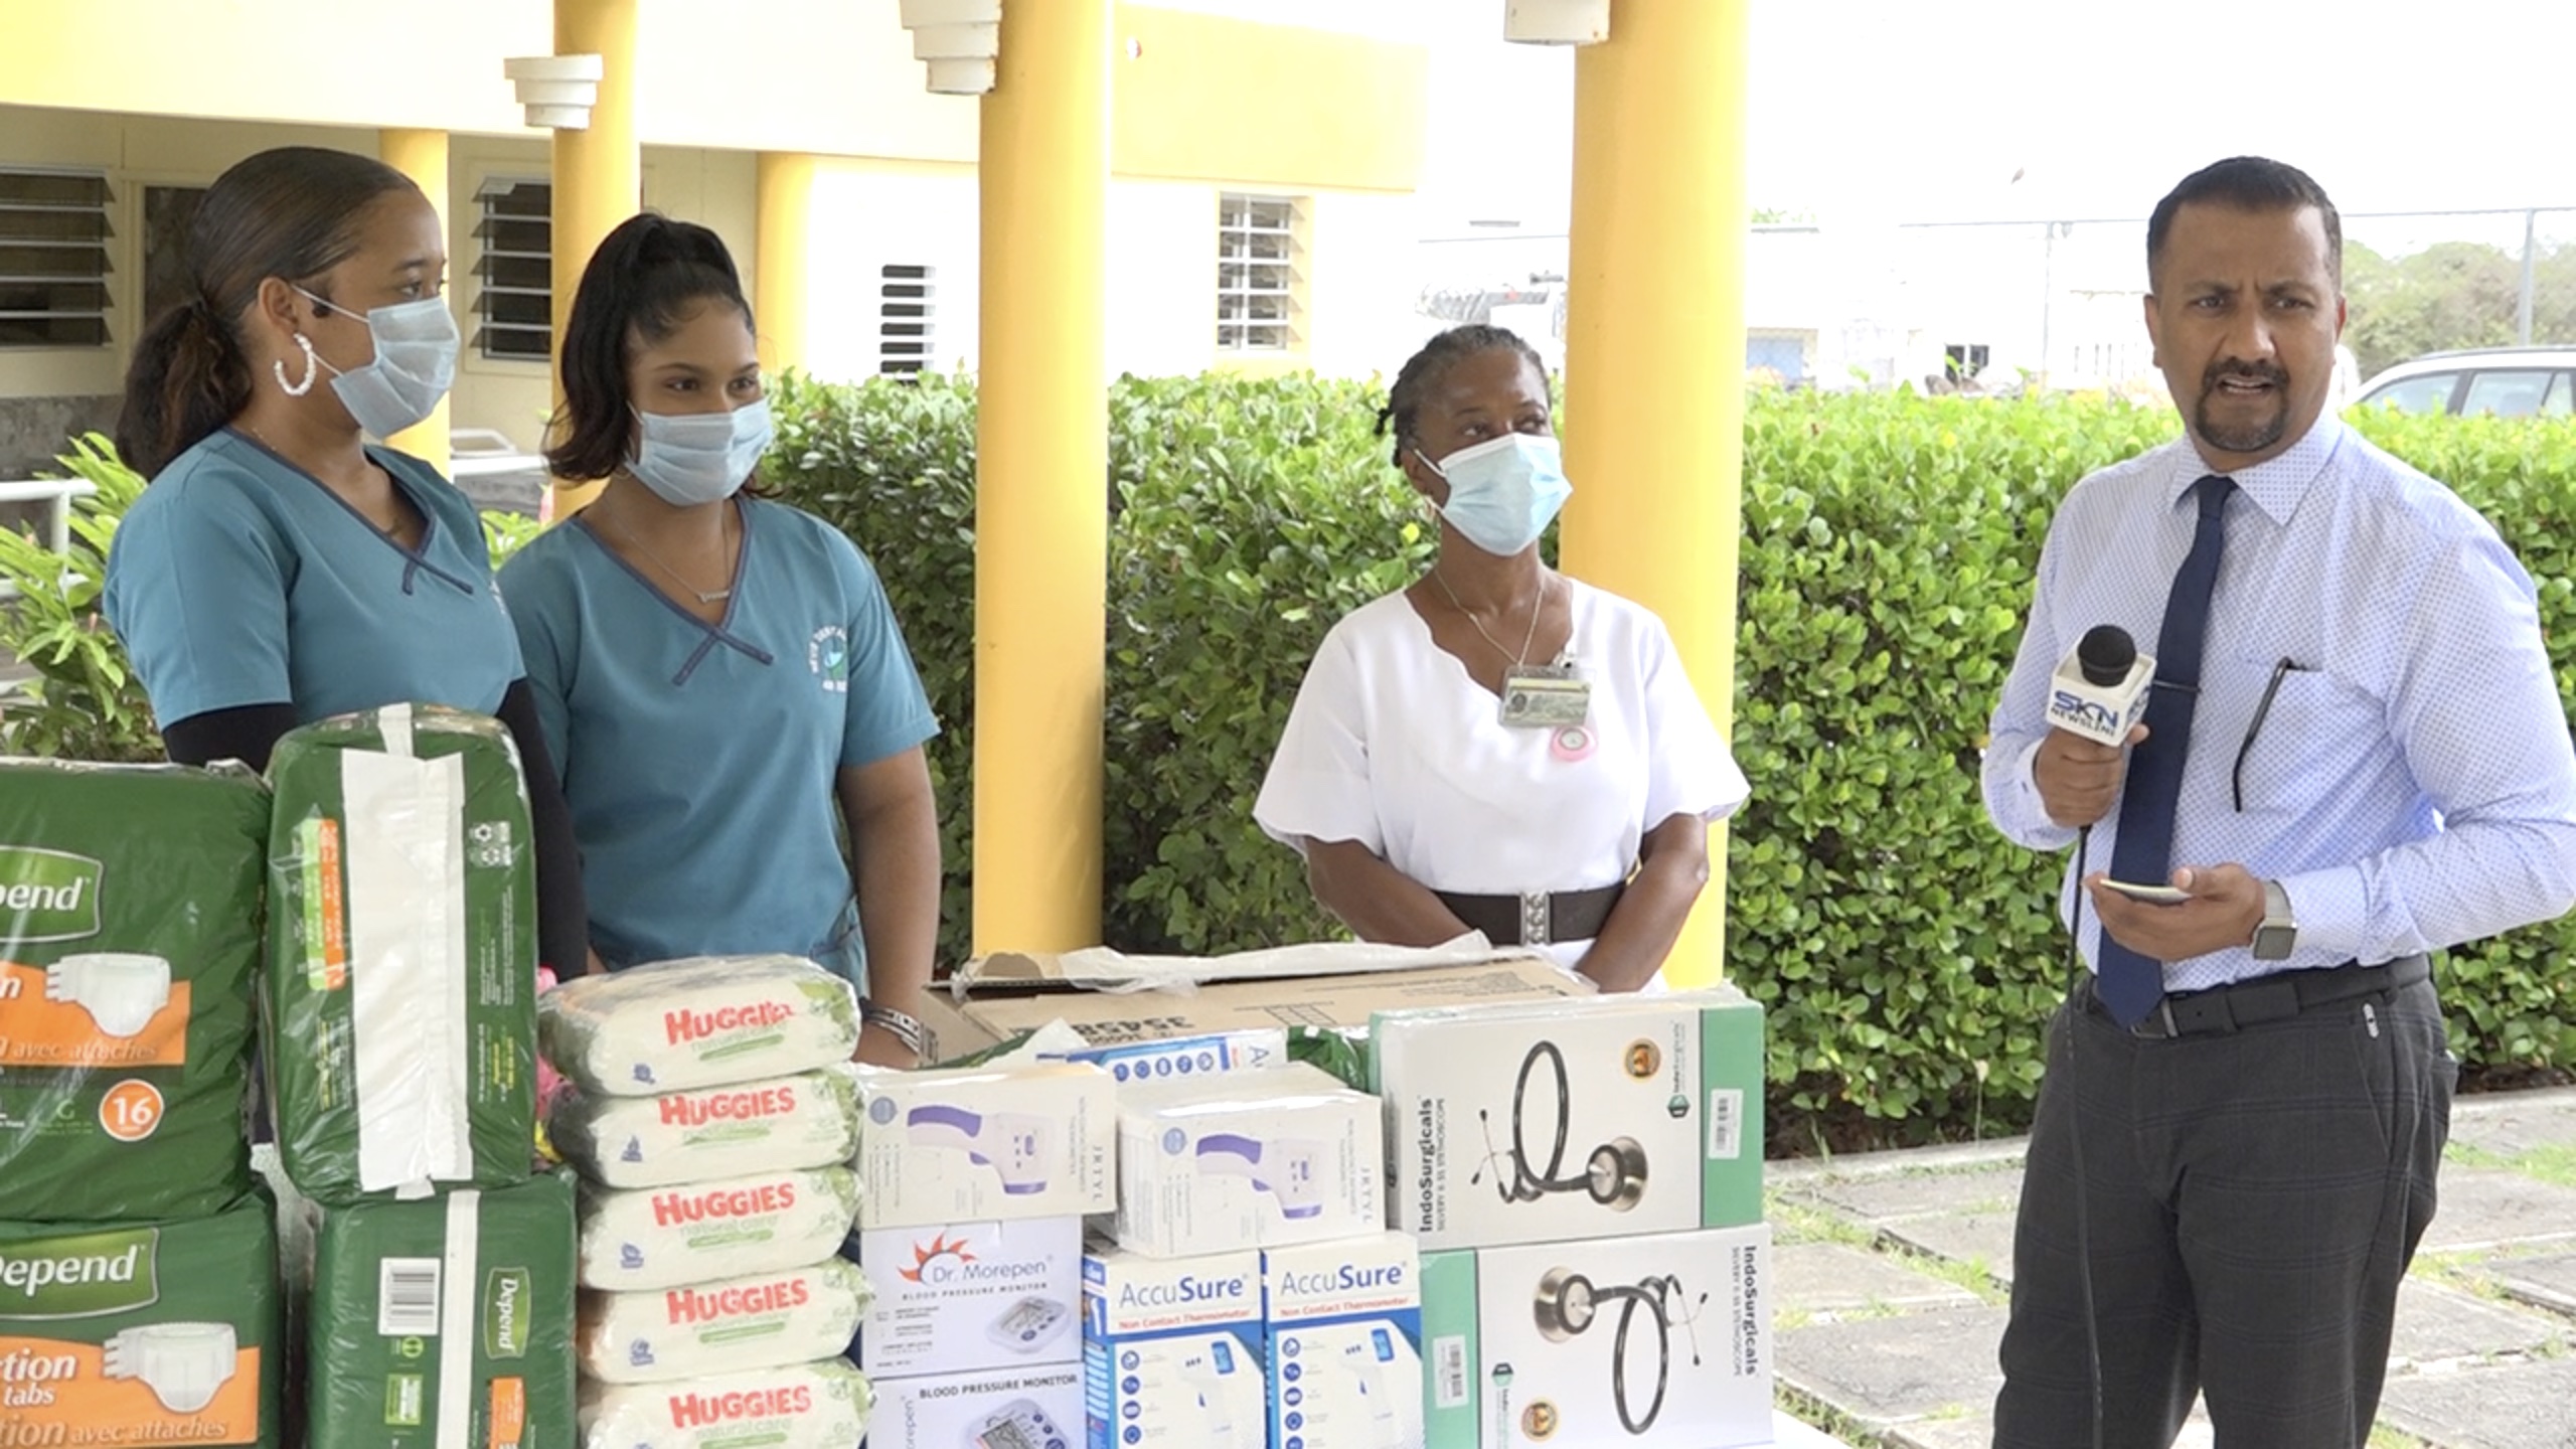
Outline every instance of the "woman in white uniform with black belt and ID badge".
{"type": "Polygon", "coordinates": [[[1571,485],[1528,343],[1440,333],[1383,423],[1440,557],[1324,637],[1255,817],[1365,941],[1484,931],[1659,987],[1744,773],[1664,621],[1540,562],[1571,485]]]}

